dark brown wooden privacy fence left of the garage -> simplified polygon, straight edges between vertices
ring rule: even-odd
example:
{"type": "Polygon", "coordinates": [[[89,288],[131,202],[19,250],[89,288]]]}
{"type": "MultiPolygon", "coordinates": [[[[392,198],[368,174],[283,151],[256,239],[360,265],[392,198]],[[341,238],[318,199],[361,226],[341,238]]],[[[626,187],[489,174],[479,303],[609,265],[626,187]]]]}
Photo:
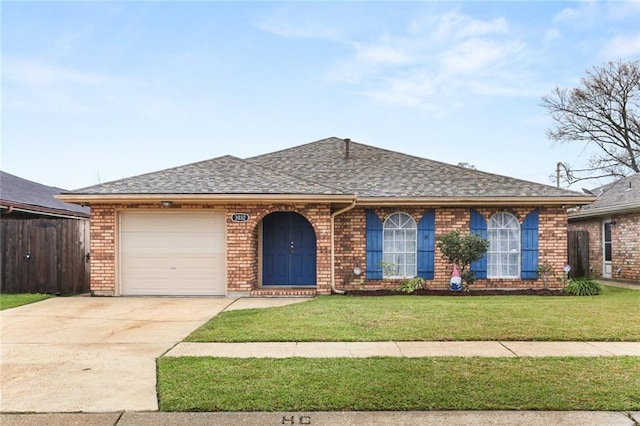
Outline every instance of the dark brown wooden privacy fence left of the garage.
{"type": "Polygon", "coordinates": [[[7,219],[0,222],[1,293],[89,291],[89,221],[7,219]]]}

